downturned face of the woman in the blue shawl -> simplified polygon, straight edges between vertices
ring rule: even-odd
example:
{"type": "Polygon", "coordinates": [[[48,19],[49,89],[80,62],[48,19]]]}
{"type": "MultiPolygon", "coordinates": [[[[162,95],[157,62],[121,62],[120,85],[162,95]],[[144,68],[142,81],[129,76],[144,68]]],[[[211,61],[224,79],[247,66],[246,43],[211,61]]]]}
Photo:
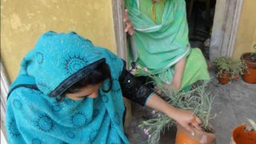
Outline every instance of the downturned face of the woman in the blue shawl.
{"type": "Polygon", "coordinates": [[[81,100],[83,98],[97,98],[98,97],[98,90],[102,86],[102,83],[89,85],[83,87],[80,91],[74,94],[66,94],[66,97],[71,98],[73,100],[81,100]]]}

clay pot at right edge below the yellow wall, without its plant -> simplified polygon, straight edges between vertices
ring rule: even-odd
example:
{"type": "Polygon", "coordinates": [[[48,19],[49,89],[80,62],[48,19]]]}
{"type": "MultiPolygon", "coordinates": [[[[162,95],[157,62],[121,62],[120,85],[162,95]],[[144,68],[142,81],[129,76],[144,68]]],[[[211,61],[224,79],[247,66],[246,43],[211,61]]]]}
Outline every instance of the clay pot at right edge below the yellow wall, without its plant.
{"type": "Polygon", "coordinates": [[[250,54],[251,53],[245,53],[241,56],[241,59],[246,63],[246,66],[248,66],[247,70],[245,70],[242,75],[242,80],[254,84],[256,83],[256,62],[250,61],[250,54]]]}

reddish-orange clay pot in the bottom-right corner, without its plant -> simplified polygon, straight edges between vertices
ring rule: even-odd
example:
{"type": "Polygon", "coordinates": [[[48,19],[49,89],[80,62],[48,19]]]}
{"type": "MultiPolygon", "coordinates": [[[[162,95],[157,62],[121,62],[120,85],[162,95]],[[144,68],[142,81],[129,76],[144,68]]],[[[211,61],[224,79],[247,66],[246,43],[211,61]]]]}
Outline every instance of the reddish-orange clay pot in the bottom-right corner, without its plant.
{"type": "Polygon", "coordinates": [[[233,130],[232,144],[255,144],[256,143],[256,131],[246,130],[246,126],[238,126],[233,130]]]}

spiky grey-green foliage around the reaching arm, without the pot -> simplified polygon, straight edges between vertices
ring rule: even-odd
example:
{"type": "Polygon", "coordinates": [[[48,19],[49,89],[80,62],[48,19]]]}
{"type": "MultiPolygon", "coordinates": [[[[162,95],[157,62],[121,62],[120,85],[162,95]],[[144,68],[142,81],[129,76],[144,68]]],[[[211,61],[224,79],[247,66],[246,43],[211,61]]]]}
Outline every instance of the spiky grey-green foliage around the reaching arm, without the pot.
{"type": "MultiPolygon", "coordinates": [[[[166,89],[160,80],[154,78],[157,86],[162,90],[161,97],[170,105],[183,109],[193,110],[194,114],[198,115],[202,120],[202,129],[209,132],[210,129],[210,110],[213,106],[214,97],[211,95],[207,82],[203,82],[201,86],[197,86],[194,90],[187,92],[175,92],[173,89],[166,89]]],[[[138,127],[144,129],[145,134],[149,135],[148,142],[155,143],[160,139],[161,132],[176,123],[170,119],[166,114],[154,111],[154,116],[146,121],[143,121],[138,127]]]]}

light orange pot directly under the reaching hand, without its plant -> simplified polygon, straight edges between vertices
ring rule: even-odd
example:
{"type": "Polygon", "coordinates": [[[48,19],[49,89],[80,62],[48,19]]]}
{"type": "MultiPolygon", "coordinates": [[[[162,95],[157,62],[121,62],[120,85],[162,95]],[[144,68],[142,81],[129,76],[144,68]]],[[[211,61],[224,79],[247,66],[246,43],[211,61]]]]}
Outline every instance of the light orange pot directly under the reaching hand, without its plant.
{"type": "Polygon", "coordinates": [[[185,130],[182,126],[178,125],[177,127],[178,130],[175,144],[211,144],[216,138],[216,134],[206,133],[204,131],[195,129],[194,127],[192,127],[194,130],[194,136],[191,135],[190,132],[185,130]]]}

